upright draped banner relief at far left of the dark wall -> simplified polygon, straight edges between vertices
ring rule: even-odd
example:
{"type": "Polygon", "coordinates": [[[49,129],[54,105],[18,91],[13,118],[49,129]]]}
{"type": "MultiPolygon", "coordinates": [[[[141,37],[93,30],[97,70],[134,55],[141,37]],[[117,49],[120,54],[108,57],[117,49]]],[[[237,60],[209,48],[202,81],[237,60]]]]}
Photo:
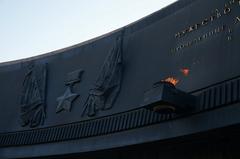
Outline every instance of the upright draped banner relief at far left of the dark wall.
{"type": "Polygon", "coordinates": [[[47,65],[28,65],[22,83],[21,125],[36,127],[44,123],[46,117],[46,80],[47,65]]]}

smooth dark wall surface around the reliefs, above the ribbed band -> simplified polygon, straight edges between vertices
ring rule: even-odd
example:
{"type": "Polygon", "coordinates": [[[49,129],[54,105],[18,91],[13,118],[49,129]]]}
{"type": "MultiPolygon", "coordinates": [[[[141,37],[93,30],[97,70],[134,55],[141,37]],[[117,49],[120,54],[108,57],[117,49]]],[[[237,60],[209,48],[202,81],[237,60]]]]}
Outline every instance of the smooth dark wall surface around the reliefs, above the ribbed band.
{"type": "Polygon", "coordinates": [[[1,64],[0,132],[32,129],[20,124],[20,100],[29,61],[33,61],[36,66],[47,64],[48,71],[46,118],[43,125],[34,129],[101,118],[138,108],[143,102],[144,92],[155,82],[167,77],[177,78],[179,84],[176,87],[191,93],[238,77],[239,8],[238,2],[230,4],[230,0],[182,0],[84,45],[78,44],[49,55],[1,64]],[[228,4],[227,7],[225,4],[228,4]],[[221,16],[210,21],[209,18],[216,15],[216,9],[221,16]],[[204,21],[206,18],[208,22],[204,21]],[[175,36],[195,24],[198,26],[194,31],[188,30],[182,37],[175,36]],[[120,93],[112,109],[100,111],[90,118],[82,116],[89,90],[101,74],[101,67],[123,30],[120,93]],[[183,44],[185,46],[181,46],[183,44]],[[188,76],[182,74],[183,68],[190,70],[188,76]],[[77,69],[84,70],[81,82],[74,85],[74,92],[80,97],[73,102],[71,112],[57,114],[56,100],[66,89],[66,76],[77,69]]]}

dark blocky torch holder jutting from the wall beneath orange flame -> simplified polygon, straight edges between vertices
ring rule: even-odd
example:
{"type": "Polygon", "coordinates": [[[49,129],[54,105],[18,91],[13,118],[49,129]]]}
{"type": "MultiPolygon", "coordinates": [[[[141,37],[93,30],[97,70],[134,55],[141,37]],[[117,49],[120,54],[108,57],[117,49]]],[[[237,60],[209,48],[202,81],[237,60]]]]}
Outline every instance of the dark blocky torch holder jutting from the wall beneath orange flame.
{"type": "Polygon", "coordinates": [[[196,97],[176,89],[169,82],[160,81],[144,93],[142,106],[159,113],[185,113],[193,110],[196,97]]]}

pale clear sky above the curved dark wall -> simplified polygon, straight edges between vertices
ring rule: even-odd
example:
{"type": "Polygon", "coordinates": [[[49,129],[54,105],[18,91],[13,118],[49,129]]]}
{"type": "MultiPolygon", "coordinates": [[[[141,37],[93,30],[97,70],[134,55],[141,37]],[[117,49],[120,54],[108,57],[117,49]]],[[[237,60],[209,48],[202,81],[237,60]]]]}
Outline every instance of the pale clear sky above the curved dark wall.
{"type": "Polygon", "coordinates": [[[176,0],[0,0],[0,62],[106,34],[176,0]]]}

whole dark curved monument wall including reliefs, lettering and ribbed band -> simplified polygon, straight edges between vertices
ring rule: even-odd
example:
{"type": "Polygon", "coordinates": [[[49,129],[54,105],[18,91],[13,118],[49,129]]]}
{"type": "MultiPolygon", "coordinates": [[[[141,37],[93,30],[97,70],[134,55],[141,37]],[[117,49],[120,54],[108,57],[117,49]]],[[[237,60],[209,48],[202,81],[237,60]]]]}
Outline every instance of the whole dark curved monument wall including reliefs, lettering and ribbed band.
{"type": "Polygon", "coordinates": [[[180,0],[93,40],[0,64],[0,156],[82,153],[237,125],[239,8],[180,0]],[[144,105],[164,80],[194,96],[194,109],[144,105]]]}

